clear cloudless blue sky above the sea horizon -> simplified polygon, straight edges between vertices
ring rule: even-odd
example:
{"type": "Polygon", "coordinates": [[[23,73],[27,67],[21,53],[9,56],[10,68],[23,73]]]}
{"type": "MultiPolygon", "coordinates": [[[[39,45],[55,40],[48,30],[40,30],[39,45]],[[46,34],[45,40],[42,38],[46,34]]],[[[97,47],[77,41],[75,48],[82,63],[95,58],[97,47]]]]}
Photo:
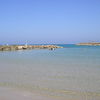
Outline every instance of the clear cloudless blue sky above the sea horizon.
{"type": "Polygon", "coordinates": [[[0,0],[0,44],[100,42],[100,0],[0,0]]]}

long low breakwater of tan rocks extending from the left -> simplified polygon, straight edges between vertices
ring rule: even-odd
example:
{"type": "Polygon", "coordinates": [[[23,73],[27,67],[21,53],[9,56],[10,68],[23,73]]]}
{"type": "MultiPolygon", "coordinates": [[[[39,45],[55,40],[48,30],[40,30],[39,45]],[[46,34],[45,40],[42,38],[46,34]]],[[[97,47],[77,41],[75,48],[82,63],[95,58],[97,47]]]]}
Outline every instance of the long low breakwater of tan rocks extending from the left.
{"type": "Polygon", "coordinates": [[[27,50],[27,49],[54,50],[56,48],[63,48],[63,47],[57,45],[1,45],[0,51],[15,51],[15,50],[27,50]]]}

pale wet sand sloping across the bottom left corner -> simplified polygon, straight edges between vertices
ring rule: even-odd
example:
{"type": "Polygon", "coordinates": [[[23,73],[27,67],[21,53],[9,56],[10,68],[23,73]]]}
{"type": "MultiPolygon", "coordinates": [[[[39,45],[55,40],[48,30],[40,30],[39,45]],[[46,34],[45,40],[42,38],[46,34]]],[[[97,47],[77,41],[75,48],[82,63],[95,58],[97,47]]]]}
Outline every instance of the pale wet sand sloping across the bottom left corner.
{"type": "Polygon", "coordinates": [[[0,87],[0,100],[64,100],[13,88],[0,87]]]}

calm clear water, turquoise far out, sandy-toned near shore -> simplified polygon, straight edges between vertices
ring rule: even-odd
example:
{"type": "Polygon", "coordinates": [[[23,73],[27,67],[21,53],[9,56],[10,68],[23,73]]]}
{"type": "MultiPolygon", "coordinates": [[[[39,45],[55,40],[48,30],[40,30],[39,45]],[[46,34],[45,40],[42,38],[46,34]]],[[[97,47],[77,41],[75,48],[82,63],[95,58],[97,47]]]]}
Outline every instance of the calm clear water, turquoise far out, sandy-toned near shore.
{"type": "Polygon", "coordinates": [[[0,52],[0,86],[100,100],[100,47],[60,46],[65,48],[0,52]]]}

